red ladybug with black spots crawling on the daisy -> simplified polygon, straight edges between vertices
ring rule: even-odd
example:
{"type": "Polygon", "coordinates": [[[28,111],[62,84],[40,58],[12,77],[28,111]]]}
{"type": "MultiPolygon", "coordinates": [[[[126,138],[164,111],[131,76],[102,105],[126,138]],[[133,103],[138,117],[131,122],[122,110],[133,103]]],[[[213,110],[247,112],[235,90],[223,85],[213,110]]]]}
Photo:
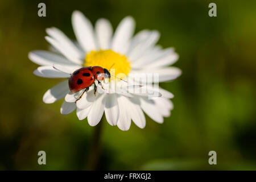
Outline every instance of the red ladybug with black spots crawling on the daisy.
{"type": "MultiPolygon", "coordinates": [[[[94,81],[98,81],[98,84],[101,85],[101,80],[104,78],[110,78],[110,73],[108,69],[101,68],[101,67],[84,67],[77,69],[75,72],[71,74],[69,77],[68,85],[71,92],[79,92],[82,89],[85,89],[82,92],[81,96],[76,100],[80,100],[82,95],[89,90],[89,87],[94,84],[94,94],[97,91],[97,86],[95,85],[94,81]]],[[[102,87],[102,89],[104,89],[102,87]]]]}

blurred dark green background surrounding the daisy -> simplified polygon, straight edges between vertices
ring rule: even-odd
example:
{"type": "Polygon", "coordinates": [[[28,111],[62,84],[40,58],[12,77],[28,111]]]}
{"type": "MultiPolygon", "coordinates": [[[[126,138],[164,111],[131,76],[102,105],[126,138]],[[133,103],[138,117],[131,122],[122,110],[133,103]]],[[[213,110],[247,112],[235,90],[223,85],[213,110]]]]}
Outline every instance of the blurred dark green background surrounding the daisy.
{"type": "Polygon", "coordinates": [[[121,131],[106,121],[97,169],[256,169],[256,1],[0,1],[0,169],[86,169],[94,127],[75,112],[60,114],[62,101],[44,104],[43,94],[61,79],[32,74],[28,52],[48,49],[46,28],[75,39],[73,10],[113,27],[126,15],[136,32],[161,33],[159,44],[175,47],[183,71],[160,84],[174,93],[170,118],[121,131]],[[44,2],[47,16],[37,15],[44,2]],[[210,2],[217,17],[208,16],[210,2]],[[38,151],[47,165],[38,165],[38,151]],[[217,165],[208,152],[217,152],[217,165]]]}

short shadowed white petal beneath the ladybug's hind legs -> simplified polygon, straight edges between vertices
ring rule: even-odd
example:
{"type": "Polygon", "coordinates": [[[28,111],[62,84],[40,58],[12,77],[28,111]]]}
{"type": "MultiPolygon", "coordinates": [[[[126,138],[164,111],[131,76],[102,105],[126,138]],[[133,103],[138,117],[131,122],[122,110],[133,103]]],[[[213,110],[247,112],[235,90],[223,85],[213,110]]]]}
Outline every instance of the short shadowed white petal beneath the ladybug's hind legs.
{"type": "Polygon", "coordinates": [[[76,106],[79,109],[85,109],[93,104],[96,100],[96,96],[94,95],[93,86],[90,86],[89,90],[84,93],[84,96],[76,102],[76,106]]]}

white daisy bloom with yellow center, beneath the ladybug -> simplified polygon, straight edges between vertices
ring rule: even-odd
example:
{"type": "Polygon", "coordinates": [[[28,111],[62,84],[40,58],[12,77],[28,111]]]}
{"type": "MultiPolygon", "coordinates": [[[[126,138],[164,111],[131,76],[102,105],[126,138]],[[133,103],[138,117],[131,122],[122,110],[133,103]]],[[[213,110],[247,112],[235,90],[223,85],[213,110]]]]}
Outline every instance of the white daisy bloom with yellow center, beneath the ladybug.
{"type": "MultiPolygon", "coordinates": [[[[74,11],[72,26],[77,42],[70,40],[55,27],[47,28],[46,40],[54,51],[31,51],[28,54],[31,61],[40,65],[34,71],[35,75],[69,78],[74,71],[87,66],[112,67],[115,76],[123,73],[128,80],[134,78],[130,76],[131,73],[158,73],[159,82],[174,80],[181,74],[180,69],[167,67],[179,57],[174,49],[156,46],[160,36],[158,31],[142,30],[133,36],[135,22],[130,16],[124,18],[113,33],[107,19],[98,19],[93,28],[88,18],[80,11],[74,11]]],[[[102,84],[108,88],[109,83],[102,84]]],[[[129,88],[127,82],[119,81],[115,85],[119,86],[115,92],[111,92],[101,89],[102,85],[97,84],[98,90],[102,92],[97,91],[96,94],[94,86],[90,86],[81,99],[77,100],[83,90],[72,93],[67,79],[47,90],[43,101],[51,104],[65,98],[60,108],[61,114],[69,114],[76,109],[77,117],[80,120],[87,117],[90,126],[96,126],[105,112],[109,124],[117,125],[121,130],[129,130],[131,121],[144,128],[144,113],[158,123],[163,123],[163,117],[170,116],[173,109],[170,98],[174,95],[167,90],[159,88],[157,92],[161,97],[149,100],[146,94],[126,91],[129,88]]]]}

